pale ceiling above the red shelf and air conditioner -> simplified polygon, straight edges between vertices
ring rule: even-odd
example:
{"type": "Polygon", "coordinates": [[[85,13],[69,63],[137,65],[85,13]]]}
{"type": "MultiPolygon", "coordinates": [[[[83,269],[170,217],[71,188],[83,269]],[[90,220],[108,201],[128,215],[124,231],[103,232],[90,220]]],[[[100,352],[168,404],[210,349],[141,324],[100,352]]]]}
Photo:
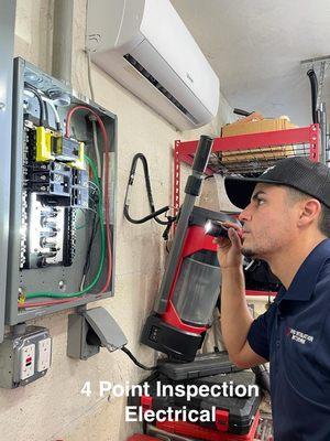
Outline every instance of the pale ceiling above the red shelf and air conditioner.
{"type": "MultiPolygon", "coordinates": [[[[330,55],[329,0],[170,1],[232,107],[311,123],[310,85],[300,62],[330,55]]],[[[330,115],[330,68],[322,100],[330,115]]]]}

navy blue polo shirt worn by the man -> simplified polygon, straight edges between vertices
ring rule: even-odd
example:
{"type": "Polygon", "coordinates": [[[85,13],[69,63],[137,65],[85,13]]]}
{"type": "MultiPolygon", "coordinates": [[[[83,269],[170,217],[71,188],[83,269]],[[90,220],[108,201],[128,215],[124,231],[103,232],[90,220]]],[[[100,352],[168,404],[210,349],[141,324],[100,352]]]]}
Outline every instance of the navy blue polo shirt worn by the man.
{"type": "Polygon", "coordinates": [[[271,362],[276,441],[330,440],[330,239],[305,259],[249,331],[271,362]]]}

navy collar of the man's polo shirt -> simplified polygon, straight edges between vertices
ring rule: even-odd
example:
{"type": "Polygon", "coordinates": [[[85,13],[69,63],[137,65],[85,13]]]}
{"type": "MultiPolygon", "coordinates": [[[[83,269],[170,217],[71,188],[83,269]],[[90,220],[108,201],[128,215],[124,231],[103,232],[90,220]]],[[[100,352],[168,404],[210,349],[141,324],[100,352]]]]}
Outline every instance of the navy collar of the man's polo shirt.
{"type": "Polygon", "coordinates": [[[276,295],[276,303],[282,300],[308,301],[327,259],[330,259],[330,239],[322,240],[312,249],[299,267],[289,289],[280,288],[276,295]]]}

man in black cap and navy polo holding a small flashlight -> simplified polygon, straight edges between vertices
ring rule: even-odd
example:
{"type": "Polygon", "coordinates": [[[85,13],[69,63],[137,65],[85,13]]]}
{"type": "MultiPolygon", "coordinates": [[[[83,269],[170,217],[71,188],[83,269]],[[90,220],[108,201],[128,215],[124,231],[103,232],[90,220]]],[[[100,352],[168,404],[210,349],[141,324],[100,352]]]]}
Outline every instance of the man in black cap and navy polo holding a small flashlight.
{"type": "Polygon", "coordinates": [[[218,243],[221,329],[241,367],[271,362],[276,441],[330,440],[330,169],[304,158],[280,160],[257,179],[227,178],[244,208],[242,237],[230,224],[218,243]],[[265,260],[283,288],[251,318],[242,255],[265,260]]]}

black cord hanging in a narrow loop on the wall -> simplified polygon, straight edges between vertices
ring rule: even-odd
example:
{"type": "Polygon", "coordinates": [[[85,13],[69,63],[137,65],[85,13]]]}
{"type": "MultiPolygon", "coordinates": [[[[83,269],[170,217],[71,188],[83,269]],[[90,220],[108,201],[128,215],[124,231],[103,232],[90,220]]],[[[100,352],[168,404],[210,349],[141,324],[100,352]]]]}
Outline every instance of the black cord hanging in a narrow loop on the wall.
{"type": "Polygon", "coordinates": [[[150,174],[148,174],[148,166],[147,166],[147,161],[146,158],[143,153],[136,153],[133,158],[132,161],[132,165],[131,165],[131,171],[130,171],[130,178],[129,178],[129,183],[128,183],[128,187],[127,187],[127,194],[125,194],[125,200],[124,200],[124,209],[123,209],[123,214],[125,216],[125,218],[131,222],[132,224],[144,224],[145,222],[150,220],[150,219],[155,219],[158,224],[161,225],[168,225],[169,223],[172,224],[173,220],[168,219],[168,220],[162,220],[160,219],[157,216],[160,216],[163,213],[168,212],[169,206],[165,206],[163,208],[160,209],[155,209],[155,204],[154,204],[154,200],[153,200],[153,195],[152,195],[152,190],[151,190],[151,183],[150,183],[150,174]],[[133,183],[134,183],[134,178],[135,178],[135,171],[136,171],[136,164],[138,161],[141,160],[142,161],[142,165],[143,165],[143,171],[144,171],[144,180],[145,180],[145,186],[146,186],[146,194],[147,194],[147,200],[148,200],[148,205],[150,205],[150,209],[151,209],[151,214],[142,217],[141,219],[134,219],[133,217],[130,216],[129,209],[130,209],[130,196],[131,196],[131,192],[132,192],[132,187],[133,187],[133,183]]]}

